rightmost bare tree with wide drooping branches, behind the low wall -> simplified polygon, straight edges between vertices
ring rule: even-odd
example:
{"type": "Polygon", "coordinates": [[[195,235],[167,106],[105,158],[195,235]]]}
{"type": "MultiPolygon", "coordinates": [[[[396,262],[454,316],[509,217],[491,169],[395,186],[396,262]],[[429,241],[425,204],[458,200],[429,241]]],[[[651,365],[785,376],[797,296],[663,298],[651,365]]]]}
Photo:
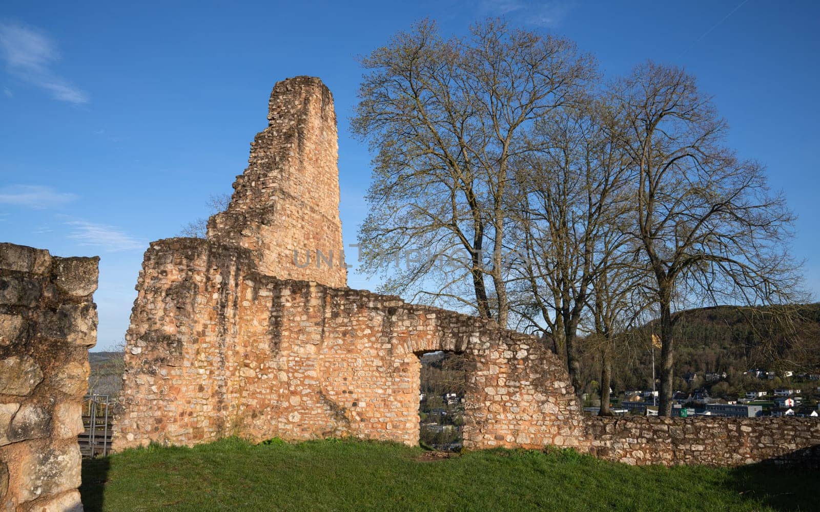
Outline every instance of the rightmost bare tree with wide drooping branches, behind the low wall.
{"type": "Polygon", "coordinates": [[[722,145],[727,124],[691,75],[648,62],[613,84],[612,95],[621,116],[612,137],[635,170],[631,233],[652,270],[660,315],[658,414],[671,415],[674,306],[791,301],[794,215],[769,190],[762,165],[722,145]]]}

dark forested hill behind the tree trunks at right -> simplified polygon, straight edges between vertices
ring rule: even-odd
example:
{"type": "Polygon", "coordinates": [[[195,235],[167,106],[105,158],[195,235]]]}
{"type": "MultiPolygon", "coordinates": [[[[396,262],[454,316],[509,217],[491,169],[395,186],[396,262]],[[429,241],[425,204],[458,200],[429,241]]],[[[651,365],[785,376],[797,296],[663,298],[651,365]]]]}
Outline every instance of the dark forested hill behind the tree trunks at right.
{"type": "MultiPolygon", "coordinates": [[[[617,388],[651,387],[649,339],[654,329],[650,322],[623,342],[613,365],[617,388]]],[[[795,373],[820,369],[820,303],[787,310],[736,306],[686,310],[679,314],[675,332],[676,389],[686,388],[682,378],[689,371],[737,375],[755,367],[795,373]]],[[[657,371],[660,350],[655,349],[654,356],[657,371]]],[[[582,382],[599,380],[594,351],[585,353],[583,362],[582,382]]]]}

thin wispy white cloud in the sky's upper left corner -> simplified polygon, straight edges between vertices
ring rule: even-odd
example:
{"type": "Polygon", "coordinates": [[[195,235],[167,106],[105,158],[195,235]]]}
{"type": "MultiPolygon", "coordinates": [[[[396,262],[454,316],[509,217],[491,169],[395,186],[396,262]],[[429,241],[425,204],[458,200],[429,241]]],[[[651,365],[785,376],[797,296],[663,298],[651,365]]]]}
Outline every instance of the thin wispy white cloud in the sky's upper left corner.
{"type": "Polygon", "coordinates": [[[85,103],[88,94],[51,70],[60,58],[57,45],[39,29],[0,23],[0,57],[6,69],[29,84],[43,88],[62,102],[85,103]]]}

